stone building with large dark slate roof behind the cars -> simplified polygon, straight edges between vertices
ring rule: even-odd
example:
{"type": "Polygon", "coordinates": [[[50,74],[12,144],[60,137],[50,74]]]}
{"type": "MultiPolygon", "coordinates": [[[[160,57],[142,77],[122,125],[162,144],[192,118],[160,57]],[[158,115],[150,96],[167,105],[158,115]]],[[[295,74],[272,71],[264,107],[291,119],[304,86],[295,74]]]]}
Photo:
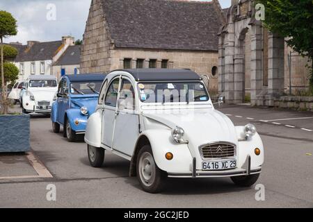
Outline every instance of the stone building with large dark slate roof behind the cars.
{"type": "Polygon", "coordinates": [[[81,72],[120,68],[192,69],[218,85],[217,0],[93,0],[81,47],[81,72]]]}

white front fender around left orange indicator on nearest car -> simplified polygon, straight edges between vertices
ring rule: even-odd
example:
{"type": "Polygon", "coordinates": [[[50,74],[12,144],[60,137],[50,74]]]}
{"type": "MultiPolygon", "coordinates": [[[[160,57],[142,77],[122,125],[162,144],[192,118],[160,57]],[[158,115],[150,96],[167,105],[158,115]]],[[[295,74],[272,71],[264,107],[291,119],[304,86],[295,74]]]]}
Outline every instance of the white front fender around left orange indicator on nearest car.
{"type": "Polygon", "coordinates": [[[193,157],[189,151],[188,144],[175,143],[170,130],[145,130],[142,135],[149,139],[154,161],[159,169],[168,173],[192,172],[193,157]],[[166,153],[168,152],[172,153],[172,160],[166,160],[166,153]]]}

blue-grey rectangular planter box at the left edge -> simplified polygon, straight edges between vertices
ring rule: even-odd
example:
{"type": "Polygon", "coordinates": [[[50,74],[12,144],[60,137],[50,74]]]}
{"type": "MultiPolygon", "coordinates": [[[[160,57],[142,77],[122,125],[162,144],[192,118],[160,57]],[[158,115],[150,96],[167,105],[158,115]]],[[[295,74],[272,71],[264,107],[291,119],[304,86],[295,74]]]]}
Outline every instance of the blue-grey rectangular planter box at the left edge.
{"type": "Polygon", "coordinates": [[[30,149],[30,116],[0,115],[0,153],[28,152],[30,149]]]}

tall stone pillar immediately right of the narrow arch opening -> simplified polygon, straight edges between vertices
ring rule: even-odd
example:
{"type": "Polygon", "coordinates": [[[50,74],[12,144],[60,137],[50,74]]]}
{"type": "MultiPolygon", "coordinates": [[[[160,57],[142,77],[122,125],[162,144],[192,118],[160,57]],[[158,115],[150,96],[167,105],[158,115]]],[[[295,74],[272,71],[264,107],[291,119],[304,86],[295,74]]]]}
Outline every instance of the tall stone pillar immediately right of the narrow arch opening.
{"type": "Polygon", "coordinates": [[[262,26],[252,24],[251,26],[251,105],[257,104],[257,95],[262,92],[262,26]]]}

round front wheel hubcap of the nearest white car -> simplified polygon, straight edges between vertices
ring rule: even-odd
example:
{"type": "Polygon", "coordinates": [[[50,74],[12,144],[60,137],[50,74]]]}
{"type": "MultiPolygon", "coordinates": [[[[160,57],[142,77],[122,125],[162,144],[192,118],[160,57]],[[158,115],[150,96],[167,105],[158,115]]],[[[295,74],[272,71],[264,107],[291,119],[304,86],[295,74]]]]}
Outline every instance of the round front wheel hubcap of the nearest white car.
{"type": "Polygon", "coordinates": [[[155,180],[156,166],[150,153],[143,153],[139,160],[139,174],[141,181],[147,187],[150,187],[155,180]]]}

